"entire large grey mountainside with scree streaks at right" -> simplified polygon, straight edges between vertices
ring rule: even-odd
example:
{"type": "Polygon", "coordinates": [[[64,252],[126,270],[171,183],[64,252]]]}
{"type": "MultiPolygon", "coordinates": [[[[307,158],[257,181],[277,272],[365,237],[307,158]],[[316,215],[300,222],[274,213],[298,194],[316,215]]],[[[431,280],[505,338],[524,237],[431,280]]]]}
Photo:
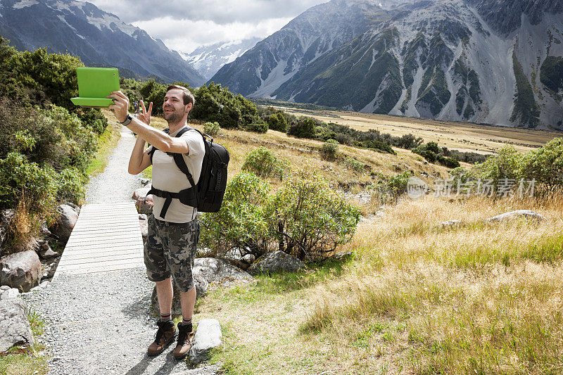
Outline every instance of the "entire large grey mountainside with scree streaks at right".
{"type": "Polygon", "coordinates": [[[299,15],[212,80],[247,96],[364,113],[560,128],[562,30],[559,1],[380,8],[334,0],[299,15]],[[328,19],[335,7],[356,12],[356,32],[347,40],[325,33],[317,44],[310,18],[318,30],[339,30],[328,19]]]}

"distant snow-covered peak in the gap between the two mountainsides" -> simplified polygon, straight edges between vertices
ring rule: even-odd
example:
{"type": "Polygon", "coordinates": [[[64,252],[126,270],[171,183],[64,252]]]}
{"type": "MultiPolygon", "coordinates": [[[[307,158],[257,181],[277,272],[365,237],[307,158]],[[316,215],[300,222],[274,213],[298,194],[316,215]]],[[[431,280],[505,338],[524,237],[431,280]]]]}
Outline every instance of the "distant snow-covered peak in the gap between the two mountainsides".
{"type": "Polygon", "coordinates": [[[180,52],[180,56],[209,80],[223,65],[232,63],[235,58],[251,49],[260,40],[262,39],[249,38],[235,42],[219,42],[198,47],[190,53],[180,52]]]}

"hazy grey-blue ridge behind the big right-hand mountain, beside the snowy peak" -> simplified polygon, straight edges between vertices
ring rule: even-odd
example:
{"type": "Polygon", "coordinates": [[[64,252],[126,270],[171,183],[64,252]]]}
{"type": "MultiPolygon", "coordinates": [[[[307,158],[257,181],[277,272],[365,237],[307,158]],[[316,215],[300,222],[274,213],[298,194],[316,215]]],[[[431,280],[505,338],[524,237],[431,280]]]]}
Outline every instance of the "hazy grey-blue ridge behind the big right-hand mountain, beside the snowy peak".
{"type": "Polygon", "coordinates": [[[224,65],[211,79],[243,95],[270,96],[300,68],[388,18],[372,0],[332,0],[301,13],[281,30],[224,65]]]}

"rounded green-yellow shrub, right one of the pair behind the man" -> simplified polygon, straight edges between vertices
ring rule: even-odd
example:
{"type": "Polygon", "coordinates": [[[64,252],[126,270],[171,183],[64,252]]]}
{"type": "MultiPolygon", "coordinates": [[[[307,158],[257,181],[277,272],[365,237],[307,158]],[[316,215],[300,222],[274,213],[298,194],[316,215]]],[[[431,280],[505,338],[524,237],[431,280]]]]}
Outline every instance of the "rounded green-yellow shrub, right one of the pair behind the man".
{"type": "Polygon", "coordinates": [[[352,239],[360,211],[317,174],[298,172],[270,203],[279,250],[301,260],[322,258],[352,239]]]}

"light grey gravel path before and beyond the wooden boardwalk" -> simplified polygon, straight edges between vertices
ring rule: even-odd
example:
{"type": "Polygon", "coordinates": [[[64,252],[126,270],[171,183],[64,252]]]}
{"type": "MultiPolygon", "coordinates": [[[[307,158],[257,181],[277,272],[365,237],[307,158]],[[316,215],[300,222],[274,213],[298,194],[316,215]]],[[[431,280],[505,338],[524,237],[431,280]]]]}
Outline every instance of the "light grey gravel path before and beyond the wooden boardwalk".
{"type": "MultiPolygon", "coordinates": [[[[122,138],[106,170],[87,187],[88,203],[126,202],[141,186],[127,174],[134,136],[122,138]]],[[[144,267],[86,275],[61,274],[23,300],[42,315],[49,374],[191,374],[210,375],[216,366],[189,369],[172,356],[174,344],[161,355],[148,357],[156,320],[151,317],[153,283],[144,267]]]]}

